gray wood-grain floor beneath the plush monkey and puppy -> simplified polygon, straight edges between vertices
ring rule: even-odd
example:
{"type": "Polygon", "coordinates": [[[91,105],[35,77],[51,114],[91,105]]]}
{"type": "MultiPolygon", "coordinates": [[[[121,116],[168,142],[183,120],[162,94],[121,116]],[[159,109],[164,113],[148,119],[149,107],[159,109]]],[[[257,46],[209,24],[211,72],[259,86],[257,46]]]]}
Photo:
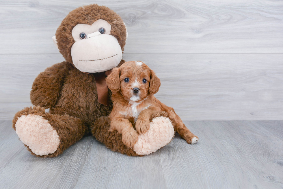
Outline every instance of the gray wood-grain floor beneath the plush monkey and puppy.
{"type": "Polygon", "coordinates": [[[0,188],[283,188],[282,121],[185,121],[198,143],[177,135],[144,157],[87,136],[45,159],[29,154],[11,124],[0,121],[0,188]]]}

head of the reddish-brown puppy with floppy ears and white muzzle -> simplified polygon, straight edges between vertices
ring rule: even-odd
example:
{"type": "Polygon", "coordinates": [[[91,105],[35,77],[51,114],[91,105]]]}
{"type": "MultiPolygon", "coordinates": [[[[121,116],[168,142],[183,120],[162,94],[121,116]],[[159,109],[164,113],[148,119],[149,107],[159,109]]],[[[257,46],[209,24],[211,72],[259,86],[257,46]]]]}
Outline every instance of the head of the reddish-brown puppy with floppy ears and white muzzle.
{"type": "Polygon", "coordinates": [[[160,87],[159,78],[140,61],[125,62],[120,68],[114,68],[106,83],[112,92],[120,91],[125,100],[133,102],[157,93],[160,87]]]}

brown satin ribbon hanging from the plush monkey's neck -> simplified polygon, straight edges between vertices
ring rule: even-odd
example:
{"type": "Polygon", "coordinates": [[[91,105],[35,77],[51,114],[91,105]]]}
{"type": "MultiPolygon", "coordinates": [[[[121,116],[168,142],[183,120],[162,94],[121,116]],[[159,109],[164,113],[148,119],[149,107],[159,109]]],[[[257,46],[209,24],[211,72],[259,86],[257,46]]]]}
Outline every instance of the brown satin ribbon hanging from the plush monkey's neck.
{"type": "Polygon", "coordinates": [[[106,85],[105,75],[108,76],[111,73],[111,70],[107,70],[106,72],[94,73],[98,102],[105,106],[108,106],[108,102],[109,102],[108,87],[106,85]]]}

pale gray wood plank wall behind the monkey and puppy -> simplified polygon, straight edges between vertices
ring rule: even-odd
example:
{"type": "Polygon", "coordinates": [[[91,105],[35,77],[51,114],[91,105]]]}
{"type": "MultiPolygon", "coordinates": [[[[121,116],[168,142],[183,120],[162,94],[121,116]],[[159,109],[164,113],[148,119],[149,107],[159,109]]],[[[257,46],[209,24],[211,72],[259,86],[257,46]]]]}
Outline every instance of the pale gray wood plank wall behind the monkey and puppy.
{"type": "Polygon", "coordinates": [[[283,1],[0,1],[0,119],[30,106],[34,78],[63,61],[51,37],[71,10],[116,11],[124,59],[161,79],[183,120],[283,119],[283,1]]]}

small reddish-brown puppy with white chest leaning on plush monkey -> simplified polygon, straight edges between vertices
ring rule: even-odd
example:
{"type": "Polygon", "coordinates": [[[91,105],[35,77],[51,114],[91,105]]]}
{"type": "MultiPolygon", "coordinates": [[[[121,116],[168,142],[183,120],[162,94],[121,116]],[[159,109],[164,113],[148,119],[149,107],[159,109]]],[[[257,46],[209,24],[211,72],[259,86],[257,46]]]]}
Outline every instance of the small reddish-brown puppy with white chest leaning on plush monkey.
{"type": "Polygon", "coordinates": [[[172,121],[174,130],[187,143],[198,141],[198,137],[190,132],[174,109],[154,97],[161,83],[143,62],[129,61],[120,68],[114,68],[106,78],[106,83],[112,91],[113,101],[109,115],[110,128],[122,134],[122,141],[129,148],[135,145],[139,134],[148,131],[150,121],[161,115],[172,121]]]}

